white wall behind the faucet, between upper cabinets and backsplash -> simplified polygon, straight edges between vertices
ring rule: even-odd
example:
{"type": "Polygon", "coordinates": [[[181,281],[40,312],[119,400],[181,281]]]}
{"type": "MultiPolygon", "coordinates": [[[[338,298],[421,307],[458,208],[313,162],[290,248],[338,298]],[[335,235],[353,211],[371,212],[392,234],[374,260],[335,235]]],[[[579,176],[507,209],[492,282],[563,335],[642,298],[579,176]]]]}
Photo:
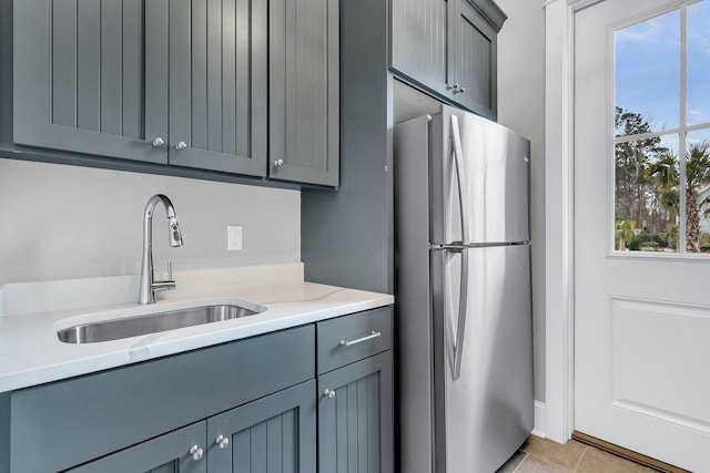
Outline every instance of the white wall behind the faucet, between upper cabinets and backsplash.
{"type": "Polygon", "coordinates": [[[298,191],[0,160],[0,286],[140,274],[143,209],[175,206],[184,246],[170,248],[162,204],[153,217],[156,271],[301,260],[298,191]],[[244,250],[226,250],[226,226],[244,250]]]}

